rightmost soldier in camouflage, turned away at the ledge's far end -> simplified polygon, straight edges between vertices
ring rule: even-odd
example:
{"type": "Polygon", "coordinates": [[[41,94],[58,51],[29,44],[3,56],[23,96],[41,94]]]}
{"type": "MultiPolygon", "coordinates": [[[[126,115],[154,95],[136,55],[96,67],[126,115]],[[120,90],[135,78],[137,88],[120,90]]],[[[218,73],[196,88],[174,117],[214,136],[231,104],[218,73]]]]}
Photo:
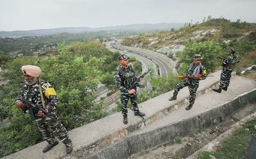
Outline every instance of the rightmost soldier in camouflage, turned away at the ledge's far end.
{"type": "Polygon", "coordinates": [[[220,87],[218,89],[213,89],[213,91],[218,93],[221,93],[221,89],[227,91],[228,85],[230,83],[231,73],[234,70],[236,63],[239,63],[240,61],[239,58],[235,55],[235,49],[229,49],[228,53],[230,56],[228,56],[226,59],[221,58],[223,68],[220,75],[220,87]]]}

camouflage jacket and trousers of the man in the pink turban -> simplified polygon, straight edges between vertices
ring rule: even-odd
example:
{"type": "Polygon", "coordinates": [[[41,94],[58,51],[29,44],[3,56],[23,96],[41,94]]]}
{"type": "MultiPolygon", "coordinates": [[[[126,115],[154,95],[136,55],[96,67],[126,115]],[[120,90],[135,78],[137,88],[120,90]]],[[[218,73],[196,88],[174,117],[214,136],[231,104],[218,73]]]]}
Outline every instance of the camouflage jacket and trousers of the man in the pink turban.
{"type": "MultiPolygon", "coordinates": [[[[52,87],[49,82],[41,82],[42,93],[44,95],[45,107],[49,110],[52,116],[57,119],[57,97],[56,95],[49,96],[49,99],[45,96],[45,88],[52,87]]],[[[39,107],[42,107],[42,100],[40,98],[39,83],[29,85],[25,84],[23,89],[20,91],[20,95],[17,97],[17,101],[22,101],[22,99],[29,100],[30,102],[35,103],[39,107]]],[[[49,144],[54,144],[57,142],[55,137],[58,137],[65,146],[70,147],[72,142],[68,135],[66,128],[58,121],[52,120],[50,117],[38,116],[38,112],[31,109],[31,107],[25,107],[23,109],[25,113],[29,113],[31,119],[36,121],[38,130],[42,133],[43,137],[49,144]]]]}

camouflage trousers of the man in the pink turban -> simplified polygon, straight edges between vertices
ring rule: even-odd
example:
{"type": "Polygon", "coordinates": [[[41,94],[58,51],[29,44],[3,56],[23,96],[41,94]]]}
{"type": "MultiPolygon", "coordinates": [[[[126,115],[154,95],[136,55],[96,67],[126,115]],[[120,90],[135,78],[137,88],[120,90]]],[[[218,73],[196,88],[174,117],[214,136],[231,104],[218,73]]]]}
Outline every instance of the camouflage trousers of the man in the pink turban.
{"type": "Polygon", "coordinates": [[[72,142],[68,135],[67,129],[60,123],[60,121],[53,121],[50,117],[36,119],[36,125],[40,133],[49,144],[57,141],[55,137],[63,142],[65,146],[71,146],[72,142]]]}

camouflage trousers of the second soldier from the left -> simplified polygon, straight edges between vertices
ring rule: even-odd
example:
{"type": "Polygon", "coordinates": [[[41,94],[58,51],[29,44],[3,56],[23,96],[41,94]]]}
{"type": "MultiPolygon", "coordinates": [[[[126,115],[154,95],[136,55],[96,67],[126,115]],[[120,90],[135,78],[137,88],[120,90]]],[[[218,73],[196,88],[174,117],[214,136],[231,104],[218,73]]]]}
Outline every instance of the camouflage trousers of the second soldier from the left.
{"type": "Polygon", "coordinates": [[[123,116],[127,116],[127,113],[128,113],[127,103],[129,101],[129,98],[131,98],[133,110],[135,112],[139,111],[138,103],[137,103],[137,95],[136,94],[135,95],[127,95],[127,94],[121,93],[120,100],[121,100],[121,105],[122,105],[122,114],[123,114],[123,116]]]}

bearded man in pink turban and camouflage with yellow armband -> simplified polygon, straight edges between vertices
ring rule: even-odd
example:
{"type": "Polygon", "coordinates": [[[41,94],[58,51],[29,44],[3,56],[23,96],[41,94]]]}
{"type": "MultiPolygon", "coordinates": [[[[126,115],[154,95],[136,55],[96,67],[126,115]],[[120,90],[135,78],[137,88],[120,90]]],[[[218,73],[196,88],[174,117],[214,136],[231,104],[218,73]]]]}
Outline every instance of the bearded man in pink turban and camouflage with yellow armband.
{"type": "Polygon", "coordinates": [[[59,143],[55,137],[58,137],[58,139],[65,144],[67,154],[71,153],[73,148],[68,132],[60,121],[57,120],[57,96],[52,84],[50,82],[41,82],[39,80],[41,69],[37,66],[22,66],[22,73],[24,74],[26,82],[20,91],[20,95],[17,97],[16,105],[25,113],[30,114],[31,119],[35,120],[39,132],[42,133],[44,139],[47,140],[48,144],[43,149],[43,153],[49,151],[59,143]],[[31,107],[26,107],[26,105],[22,103],[22,99],[26,99],[39,107],[43,107],[42,98],[40,96],[40,87],[42,98],[45,103],[45,110],[47,110],[47,112],[49,112],[56,120],[45,116],[41,110],[36,112],[31,107]]]}

